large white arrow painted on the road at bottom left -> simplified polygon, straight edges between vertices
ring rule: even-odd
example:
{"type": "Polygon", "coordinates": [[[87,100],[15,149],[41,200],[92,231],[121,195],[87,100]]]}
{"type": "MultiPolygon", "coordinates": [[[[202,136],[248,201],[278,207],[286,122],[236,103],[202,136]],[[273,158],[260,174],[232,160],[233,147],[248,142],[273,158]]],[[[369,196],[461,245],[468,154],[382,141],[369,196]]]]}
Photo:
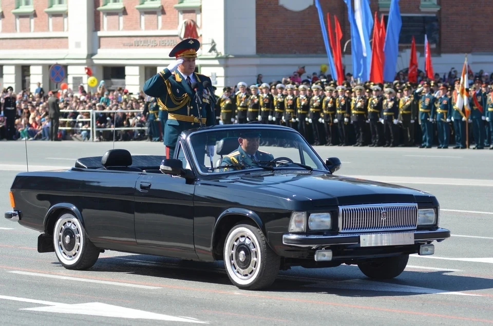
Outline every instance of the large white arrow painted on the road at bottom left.
{"type": "Polygon", "coordinates": [[[11,297],[4,295],[0,295],[0,299],[48,305],[46,307],[24,308],[19,310],[42,311],[42,312],[61,313],[61,314],[89,315],[89,316],[100,316],[100,317],[152,319],[152,320],[208,324],[208,322],[206,321],[201,321],[192,317],[169,316],[169,315],[157,314],[153,312],[147,312],[143,310],[125,308],[122,306],[106,304],[101,302],[68,304],[61,302],[34,300],[34,299],[11,297]]]}

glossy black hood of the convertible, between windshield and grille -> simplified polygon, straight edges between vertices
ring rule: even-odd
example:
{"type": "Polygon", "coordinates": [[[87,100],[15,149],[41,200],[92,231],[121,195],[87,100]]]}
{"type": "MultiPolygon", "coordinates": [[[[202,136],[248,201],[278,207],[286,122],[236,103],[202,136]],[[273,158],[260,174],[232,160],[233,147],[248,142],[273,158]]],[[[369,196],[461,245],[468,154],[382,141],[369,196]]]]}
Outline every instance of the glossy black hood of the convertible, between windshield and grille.
{"type": "Polygon", "coordinates": [[[282,197],[292,194],[291,200],[308,199],[315,206],[432,202],[432,195],[420,190],[317,171],[299,173],[276,171],[275,174],[270,175],[230,177],[227,178],[227,182],[236,186],[252,187],[252,191],[277,193],[282,197]]]}

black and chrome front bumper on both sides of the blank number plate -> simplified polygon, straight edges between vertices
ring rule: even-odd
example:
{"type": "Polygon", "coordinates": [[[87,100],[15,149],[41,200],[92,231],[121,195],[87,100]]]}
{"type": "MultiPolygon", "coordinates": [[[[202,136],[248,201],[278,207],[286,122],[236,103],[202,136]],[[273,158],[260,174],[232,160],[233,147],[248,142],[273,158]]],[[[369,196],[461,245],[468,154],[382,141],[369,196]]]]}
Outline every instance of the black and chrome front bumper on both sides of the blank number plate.
{"type": "MultiPolygon", "coordinates": [[[[393,232],[399,233],[399,232],[393,232]]],[[[443,241],[450,238],[450,231],[446,228],[437,228],[434,230],[420,230],[414,232],[405,232],[414,234],[414,242],[423,241],[443,241]]],[[[317,246],[329,246],[337,244],[359,244],[360,236],[366,235],[364,233],[359,234],[339,234],[335,236],[318,236],[318,235],[303,235],[303,234],[285,234],[282,236],[282,243],[285,245],[296,247],[317,247],[317,246]]]]}

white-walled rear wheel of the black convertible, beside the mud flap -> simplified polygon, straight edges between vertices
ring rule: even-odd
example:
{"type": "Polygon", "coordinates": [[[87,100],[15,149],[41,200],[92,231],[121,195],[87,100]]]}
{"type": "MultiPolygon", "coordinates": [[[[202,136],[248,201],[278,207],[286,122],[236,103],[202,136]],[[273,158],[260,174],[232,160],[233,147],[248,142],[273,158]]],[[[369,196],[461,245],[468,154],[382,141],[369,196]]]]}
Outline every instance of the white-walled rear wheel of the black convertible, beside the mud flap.
{"type": "Polygon", "coordinates": [[[63,213],[53,228],[56,258],[68,270],[86,270],[98,260],[100,250],[87,238],[82,223],[63,213]]]}

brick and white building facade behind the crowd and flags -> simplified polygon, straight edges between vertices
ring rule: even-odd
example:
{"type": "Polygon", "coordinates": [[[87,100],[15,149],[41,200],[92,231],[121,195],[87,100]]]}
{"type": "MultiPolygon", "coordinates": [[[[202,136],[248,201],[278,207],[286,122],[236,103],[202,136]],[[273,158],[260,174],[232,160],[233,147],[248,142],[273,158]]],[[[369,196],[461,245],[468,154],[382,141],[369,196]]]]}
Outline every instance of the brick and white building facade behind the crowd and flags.
{"type": "MultiPolygon", "coordinates": [[[[343,63],[351,69],[350,27],[343,0],[320,0],[324,15],[336,15],[343,30],[343,63]]],[[[389,0],[372,0],[378,16],[389,0]]],[[[474,71],[493,71],[492,6],[457,0],[401,0],[403,28],[397,70],[409,64],[410,40],[424,69],[424,35],[435,72],[459,70],[468,54],[474,71]]],[[[327,23],[327,18],[326,18],[327,23]]],[[[62,82],[86,84],[86,67],[112,89],[136,93],[174,58],[169,51],[194,36],[202,43],[197,69],[221,89],[289,76],[300,66],[318,72],[327,63],[314,0],[1,0],[0,83],[15,91],[56,85],[49,71],[62,65],[62,82]]]]}

